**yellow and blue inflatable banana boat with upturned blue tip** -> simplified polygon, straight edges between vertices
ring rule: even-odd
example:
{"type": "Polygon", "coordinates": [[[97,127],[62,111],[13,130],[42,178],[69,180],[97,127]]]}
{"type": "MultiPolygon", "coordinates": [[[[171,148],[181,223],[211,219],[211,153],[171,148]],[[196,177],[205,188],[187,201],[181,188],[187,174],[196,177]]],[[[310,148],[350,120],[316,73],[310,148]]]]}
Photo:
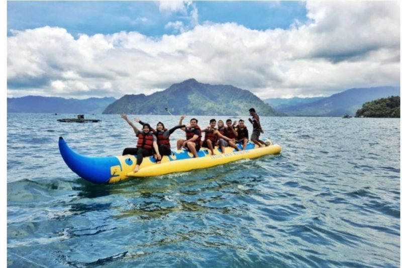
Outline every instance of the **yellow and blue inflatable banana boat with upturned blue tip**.
{"type": "MultiPolygon", "coordinates": [[[[265,141],[269,141],[265,139],[265,141]]],[[[270,141],[269,141],[270,142],[270,141]]],[[[188,150],[178,150],[171,155],[163,156],[162,163],[156,164],[153,156],[144,157],[140,170],[134,172],[136,163],[135,155],[89,157],[74,152],[68,147],[65,140],[59,138],[59,150],[67,166],[84,180],[95,184],[117,183],[131,177],[146,177],[164,175],[173,172],[190,171],[193,169],[207,168],[215,165],[225,164],[239,159],[251,159],[266,154],[278,154],[281,147],[277,144],[255,148],[255,144],[249,142],[246,150],[237,151],[232,147],[226,147],[222,154],[220,149],[215,147],[214,153],[201,148],[197,153],[199,157],[194,158],[188,150]]],[[[241,148],[242,146],[238,144],[241,148]]]]}

